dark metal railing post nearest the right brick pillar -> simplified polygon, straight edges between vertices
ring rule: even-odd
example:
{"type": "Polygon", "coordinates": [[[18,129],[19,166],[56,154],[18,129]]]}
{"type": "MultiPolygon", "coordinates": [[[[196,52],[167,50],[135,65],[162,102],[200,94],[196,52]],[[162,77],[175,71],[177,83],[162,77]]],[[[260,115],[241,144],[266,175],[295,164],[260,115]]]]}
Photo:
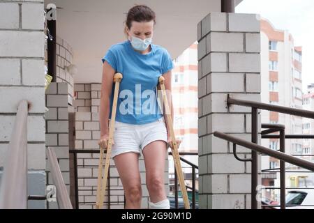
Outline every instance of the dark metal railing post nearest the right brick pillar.
{"type": "MultiPolygon", "coordinates": [[[[258,112],[257,108],[252,107],[252,142],[255,144],[258,144],[258,112]]],[[[251,208],[252,209],[257,209],[257,152],[252,151],[251,152],[252,156],[252,165],[251,165],[251,208]]]]}

